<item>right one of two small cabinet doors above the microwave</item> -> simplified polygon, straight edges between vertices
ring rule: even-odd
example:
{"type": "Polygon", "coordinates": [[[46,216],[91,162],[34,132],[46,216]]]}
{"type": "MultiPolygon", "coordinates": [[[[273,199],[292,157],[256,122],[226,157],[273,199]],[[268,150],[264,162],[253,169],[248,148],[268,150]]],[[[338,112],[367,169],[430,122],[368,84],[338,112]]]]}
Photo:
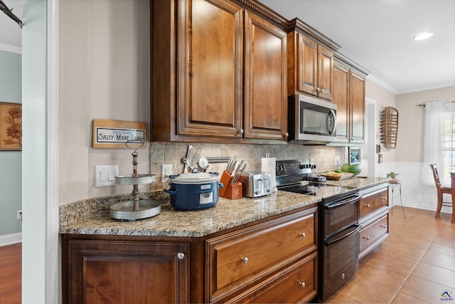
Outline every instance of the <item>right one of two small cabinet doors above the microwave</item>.
{"type": "Polygon", "coordinates": [[[318,46],[318,96],[333,100],[333,53],[318,46]]]}

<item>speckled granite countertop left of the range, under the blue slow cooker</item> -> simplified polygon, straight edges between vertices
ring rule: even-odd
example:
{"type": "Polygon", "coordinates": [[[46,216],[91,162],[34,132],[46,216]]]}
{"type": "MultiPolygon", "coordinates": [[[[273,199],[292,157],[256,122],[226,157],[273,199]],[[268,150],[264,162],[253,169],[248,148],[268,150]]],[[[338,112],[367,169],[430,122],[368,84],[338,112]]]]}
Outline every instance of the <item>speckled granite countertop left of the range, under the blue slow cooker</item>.
{"type": "MultiPolygon", "coordinates": [[[[60,234],[109,234],[124,236],[206,236],[252,221],[265,219],[321,201],[320,197],[277,192],[257,199],[225,199],[197,211],[177,211],[161,204],[161,212],[149,219],[119,221],[108,211],[60,226],[60,234]]],[[[61,215],[61,212],[60,212],[61,215]]]]}

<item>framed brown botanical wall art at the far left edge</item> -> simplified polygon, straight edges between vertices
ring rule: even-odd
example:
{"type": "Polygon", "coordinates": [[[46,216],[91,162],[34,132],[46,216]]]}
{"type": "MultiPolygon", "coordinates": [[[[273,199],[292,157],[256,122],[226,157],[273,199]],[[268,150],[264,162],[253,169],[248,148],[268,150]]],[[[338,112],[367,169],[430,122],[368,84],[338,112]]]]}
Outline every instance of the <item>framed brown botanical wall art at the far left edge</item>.
{"type": "Polygon", "coordinates": [[[0,150],[22,150],[20,103],[0,103],[0,150]]]}

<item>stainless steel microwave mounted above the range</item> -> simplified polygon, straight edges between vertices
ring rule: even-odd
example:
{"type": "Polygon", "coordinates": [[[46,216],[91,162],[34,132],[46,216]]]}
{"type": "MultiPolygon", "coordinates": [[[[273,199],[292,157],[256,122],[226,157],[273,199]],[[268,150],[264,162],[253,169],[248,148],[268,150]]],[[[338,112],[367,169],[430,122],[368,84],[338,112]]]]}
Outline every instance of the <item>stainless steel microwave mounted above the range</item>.
{"type": "Polygon", "coordinates": [[[326,145],[336,141],[336,105],[307,95],[288,98],[289,141],[326,145]]]}

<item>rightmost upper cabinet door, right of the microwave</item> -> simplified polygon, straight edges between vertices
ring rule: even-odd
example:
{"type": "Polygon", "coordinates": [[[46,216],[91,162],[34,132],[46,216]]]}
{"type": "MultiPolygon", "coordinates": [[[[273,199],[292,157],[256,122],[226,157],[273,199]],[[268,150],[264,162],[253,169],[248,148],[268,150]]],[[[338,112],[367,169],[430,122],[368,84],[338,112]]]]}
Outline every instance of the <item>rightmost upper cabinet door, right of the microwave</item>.
{"type": "Polygon", "coordinates": [[[350,142],[365,142],[365,78],[350,71],[350,142]]]}

